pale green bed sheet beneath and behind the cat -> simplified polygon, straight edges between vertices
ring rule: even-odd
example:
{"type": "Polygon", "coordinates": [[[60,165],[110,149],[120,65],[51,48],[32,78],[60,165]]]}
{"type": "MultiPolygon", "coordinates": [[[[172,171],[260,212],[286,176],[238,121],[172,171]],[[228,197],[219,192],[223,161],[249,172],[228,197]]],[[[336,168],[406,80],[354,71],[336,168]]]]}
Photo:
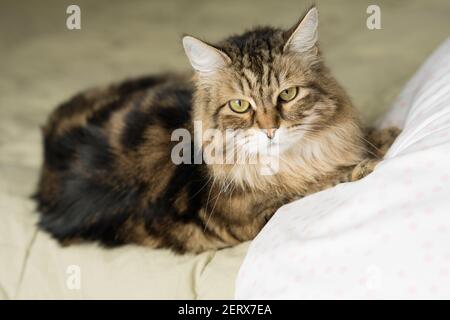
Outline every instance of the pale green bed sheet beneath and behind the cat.
{"type": "MultiPolygon", "coordinates": [[[[78,3],[86,14],[81,31],[65,29],[60,1],[42,7],[6,1],[0,10],[0,298],[233,298],[250,243],[176,256],[136,246],[61,248],[39,231],[30,200],[41,163],[39,126],[54,106],[81,89],[142,72],[187,70],[183,32],[219,39],[254,23],[285,26],[303,7],[283,1],[277,10],[285,14],[274,16],[273,1],[258,1],[258,12],[252,2],[230,3],[231,20],[225,21],[220,2],[190,2],[188,8],[183,1],[78,3]],[[126,29],[114,23],[124,20],[126,29]],[[206,30],[202,21],[211,27],[206,30]]],[[[446,1],[379,3],[383,29],[370,31],[368,4],[319,2],[326,58],[367,122],[387,110],[450,30],[446,1]]]]}

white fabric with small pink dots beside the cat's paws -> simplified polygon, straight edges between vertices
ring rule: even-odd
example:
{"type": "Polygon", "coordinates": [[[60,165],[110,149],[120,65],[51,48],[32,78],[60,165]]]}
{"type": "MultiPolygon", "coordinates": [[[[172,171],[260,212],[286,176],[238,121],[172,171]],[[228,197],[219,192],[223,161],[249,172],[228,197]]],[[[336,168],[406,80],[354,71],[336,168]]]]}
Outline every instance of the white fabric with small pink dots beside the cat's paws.
{"type": "Polygon", "coordinates": [[[250,245],[238,299],[450,299],[450,38],[381,127],[376,170],[278,210],[250,245]]]}

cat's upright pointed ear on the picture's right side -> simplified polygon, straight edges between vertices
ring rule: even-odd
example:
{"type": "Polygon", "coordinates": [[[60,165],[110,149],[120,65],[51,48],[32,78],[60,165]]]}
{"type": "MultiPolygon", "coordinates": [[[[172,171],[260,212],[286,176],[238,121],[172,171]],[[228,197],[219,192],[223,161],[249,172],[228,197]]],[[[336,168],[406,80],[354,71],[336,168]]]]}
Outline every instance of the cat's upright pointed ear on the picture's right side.
{"type": "Polygon", "coordinates": [[[317,44],[319,25],[319,13],[316,7],[312,7],[302,20],[289,30],[289,38],[283,51],[305,53],[313,49],[317,44]]]}

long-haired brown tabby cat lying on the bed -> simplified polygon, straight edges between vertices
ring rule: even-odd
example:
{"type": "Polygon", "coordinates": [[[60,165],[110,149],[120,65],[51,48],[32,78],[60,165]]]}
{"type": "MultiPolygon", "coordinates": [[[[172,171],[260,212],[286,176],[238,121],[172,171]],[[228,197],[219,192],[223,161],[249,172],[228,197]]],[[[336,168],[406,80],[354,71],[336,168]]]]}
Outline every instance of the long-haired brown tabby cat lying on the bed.
{"type": "MultiPolygon", "coordinates": [[[[43,127],[40,228],[62,245],[200,253],[253,239],[283,204],[372,172],[400,131],[362,128],[324,65],[317,27],[311,7],[289,30],[258,27],[216,45],[184,36],[193,74],[127,80],[61,104],[43,127]],[[175,164],[171,134],[195,122],[236,130],[240,152],[278,169],[175,164]]],[[[193,154],[221,145],[194,139],[193,154]]]]}

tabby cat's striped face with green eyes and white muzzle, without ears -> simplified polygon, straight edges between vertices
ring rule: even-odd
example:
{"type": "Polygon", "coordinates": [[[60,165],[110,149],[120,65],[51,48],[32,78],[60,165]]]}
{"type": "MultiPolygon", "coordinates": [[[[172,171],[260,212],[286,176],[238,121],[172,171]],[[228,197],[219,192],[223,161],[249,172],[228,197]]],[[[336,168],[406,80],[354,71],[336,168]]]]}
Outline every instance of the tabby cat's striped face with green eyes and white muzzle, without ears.
{"type": "Polygon", "coordinates": [[[242,63],[247,57],[235,58],[238,63],[205,79],[203,90],[208,103],[201,120],[210,124],[208,128],[233,130],[236,143],[250,155],[287,151],[305,133],[329,122],[336,111],[311,66],[320,67],[317,57],[305,61],[281,52],[266,57],[253,64],[242,63]]]}

